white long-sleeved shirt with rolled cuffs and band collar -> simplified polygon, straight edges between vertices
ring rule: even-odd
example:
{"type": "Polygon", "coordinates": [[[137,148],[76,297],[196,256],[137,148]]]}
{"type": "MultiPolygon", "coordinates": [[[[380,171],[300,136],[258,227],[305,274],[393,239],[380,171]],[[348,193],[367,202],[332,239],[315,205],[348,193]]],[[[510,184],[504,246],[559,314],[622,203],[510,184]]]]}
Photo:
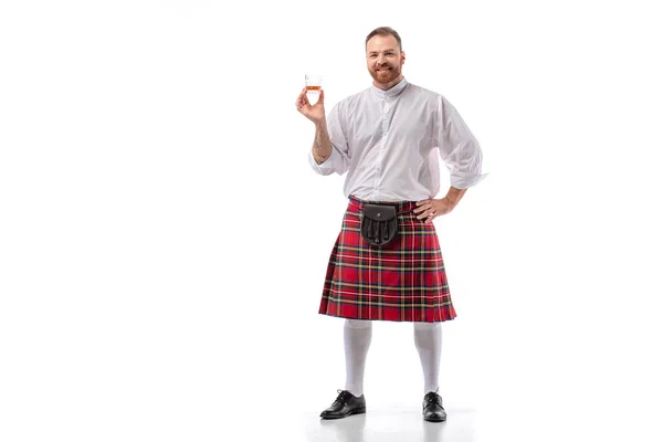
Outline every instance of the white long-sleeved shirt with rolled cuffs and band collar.
{"type": "Polygon", "coordinates": [[[336,104],[327,116],[332,156],[320,175],[348,172],[344,193],[368,201],[420,201],[440,192],[440,161],[450,183],[478,183],[482,151],[456,109],[440,94],[401,80],[375,85],[336,104]]]}

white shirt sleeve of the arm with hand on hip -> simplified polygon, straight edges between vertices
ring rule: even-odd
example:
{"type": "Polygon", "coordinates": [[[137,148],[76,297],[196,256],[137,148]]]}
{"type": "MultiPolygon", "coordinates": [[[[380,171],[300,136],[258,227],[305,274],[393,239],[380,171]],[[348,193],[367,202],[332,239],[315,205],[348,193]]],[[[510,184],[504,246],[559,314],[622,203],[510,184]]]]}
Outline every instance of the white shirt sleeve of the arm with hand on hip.
{"type": "Polygon", "coordinates": [[[457,110],[443,96],[438,102],[438,148],[450,173],[450,183],[466,189],[481,182],[483,152],[457,110]]]}

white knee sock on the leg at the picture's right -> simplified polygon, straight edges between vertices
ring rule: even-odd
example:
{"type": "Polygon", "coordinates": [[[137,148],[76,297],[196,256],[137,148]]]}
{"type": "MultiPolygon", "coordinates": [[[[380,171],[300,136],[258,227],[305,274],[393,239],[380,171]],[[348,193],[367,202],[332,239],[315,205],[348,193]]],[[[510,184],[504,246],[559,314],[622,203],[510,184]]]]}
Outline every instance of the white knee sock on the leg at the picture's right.
{"type": "Polygon", "coordinates": [[[423,369],[423,393],[440,387],[442,326],[440,323],[414,323],[414,345],[423,369]]]}

